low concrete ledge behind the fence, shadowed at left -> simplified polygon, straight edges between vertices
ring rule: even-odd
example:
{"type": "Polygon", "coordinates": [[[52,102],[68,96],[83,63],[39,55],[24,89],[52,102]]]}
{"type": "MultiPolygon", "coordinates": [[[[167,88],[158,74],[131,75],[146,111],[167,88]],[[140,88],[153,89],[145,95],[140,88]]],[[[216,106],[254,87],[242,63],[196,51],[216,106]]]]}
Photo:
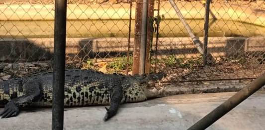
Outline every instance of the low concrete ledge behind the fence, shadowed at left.
{"type": "MultiPolygon", "coordinates": [[[[203,41],[202,37],[199,39],[203,41]]],[[[134,38],[130,41],[130,51],[133,51],[134,38]]],[[[127,38],[67,38],[66,53],[82,59],[108,57],[127,52],[127,46],[127,38]]],[[[215,57],[264,52],[265,37],[209,37],[208,48],[215,57]]],[[[53,38],[0,39],[0,51],[0,61],[47,60],[52,58],[53,38]]],[[[185,58],[200,55],[187,37],[159,38],[158,54],[185,58]]]]}

